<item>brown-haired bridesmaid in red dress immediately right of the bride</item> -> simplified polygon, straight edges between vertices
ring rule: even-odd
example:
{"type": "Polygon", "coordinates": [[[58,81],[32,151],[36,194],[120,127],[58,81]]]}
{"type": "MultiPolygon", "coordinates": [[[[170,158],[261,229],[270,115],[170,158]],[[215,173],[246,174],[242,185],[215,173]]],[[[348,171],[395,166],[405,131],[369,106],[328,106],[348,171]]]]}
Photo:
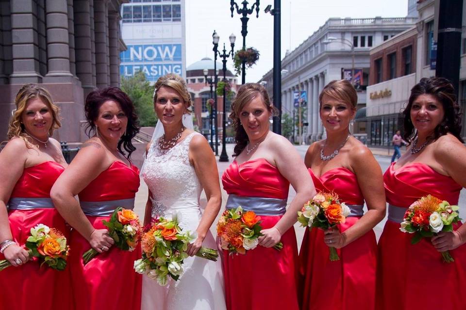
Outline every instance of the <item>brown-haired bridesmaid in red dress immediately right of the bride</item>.
{"type": "Polygon", "coordinates": [[[245,255],[224,251],[223,274],[229,310],[299,309],[297,211],[315,194],[300,155],[269,131],[273,106],[260,84],[242,85],[232,105],[236,158],[222,176],[226,208],[241,205],[262,219],[259,246],[245,255]],[[286,209],[290,184],[296,196],[286,209]],[[283,249],[272,248],[279,241],[283,249]]]}

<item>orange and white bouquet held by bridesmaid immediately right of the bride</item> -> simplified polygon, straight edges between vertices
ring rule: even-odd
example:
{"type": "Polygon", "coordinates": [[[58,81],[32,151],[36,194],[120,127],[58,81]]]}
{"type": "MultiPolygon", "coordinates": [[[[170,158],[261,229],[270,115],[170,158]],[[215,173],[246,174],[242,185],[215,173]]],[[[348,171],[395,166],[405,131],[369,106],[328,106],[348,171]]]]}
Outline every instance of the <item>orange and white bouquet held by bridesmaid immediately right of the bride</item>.
{"type": "MultiPolygon", "coordinates": [[[[225,210],[217,223],[217,235],[221,246],[230,254],[246,254],[259,244],[262,236],[261,217],[253,211],[244,211],[241,206],[225,210]]],[[[283,243],[279,242],[273,248],[281,250],[283,243]]]]}

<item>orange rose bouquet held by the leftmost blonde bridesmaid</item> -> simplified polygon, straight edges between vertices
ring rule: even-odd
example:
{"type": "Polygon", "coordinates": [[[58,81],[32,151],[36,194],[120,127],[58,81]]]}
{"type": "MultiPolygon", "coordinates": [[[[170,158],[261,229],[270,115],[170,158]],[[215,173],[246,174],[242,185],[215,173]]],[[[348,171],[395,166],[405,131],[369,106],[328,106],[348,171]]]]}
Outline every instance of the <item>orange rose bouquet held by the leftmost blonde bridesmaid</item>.
{"type": "MultiPolygon", "coordinates": [[[[26,240],[29,256],[38,257],[50,268],[64,270],[67,266],[69,246],[67,238],[58,229],[50,228],[44,224],[37,224],[31,228],[31,235],[26,240]]],[[[0,261],[0,271],[11,266],[7,260],[0,261]]]]}

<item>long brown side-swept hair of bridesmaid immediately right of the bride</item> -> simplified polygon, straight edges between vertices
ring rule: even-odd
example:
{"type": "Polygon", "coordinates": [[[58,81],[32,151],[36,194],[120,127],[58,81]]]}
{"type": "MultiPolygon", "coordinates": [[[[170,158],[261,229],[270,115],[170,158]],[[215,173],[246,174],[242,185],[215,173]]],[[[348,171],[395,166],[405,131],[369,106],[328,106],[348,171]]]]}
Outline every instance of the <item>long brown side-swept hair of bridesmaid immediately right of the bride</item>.
{"type": "Polygon", "coordinates": [[[278,110],[272,105],[270,97],[268,96],[264,86],[258,83],[246,83],[241,85],[236,97],[233,99],[232,113],[230,114],[230,119],[233,121],[233,129],[236,133],[234,137],[236,145],[234,146],[233,156],[240,155],[246,145],[248,145],[249,138],[239,121],[239,115],[244,109],[244,106],[254,100],[257,96],[261,96],[262,101],[271,115],[278,115],[278,110]]]}

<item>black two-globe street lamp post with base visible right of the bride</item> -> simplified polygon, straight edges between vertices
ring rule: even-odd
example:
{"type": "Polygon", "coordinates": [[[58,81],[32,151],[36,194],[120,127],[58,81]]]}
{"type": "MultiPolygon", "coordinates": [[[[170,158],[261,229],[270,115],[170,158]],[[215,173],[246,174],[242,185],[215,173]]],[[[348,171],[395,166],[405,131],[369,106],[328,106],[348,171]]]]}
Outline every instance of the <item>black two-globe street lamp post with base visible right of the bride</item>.
{"type": "MultiPolygon", "coordinates": [[[[223,44],[223,53],[220,53],[218,51],[218,41],[220,37],[218,34],[214,31],[214,35],[212,36],[214,38],[214,62],[216,62],[217,59],[217,53],[218,57],[222,59],[223,62],[223,81],[226,82],[227,78],[227,59],[231,56],[233,60],[234,56],[234,41],[236,40],[236,36],[232,33],[230,35],[230,45],[232,49],[227,53],[227,50],[225,48],[225,44],[223,44]]],[[[216,64],[215,64],[216,68],[216,64]]],[[[219,161],[228,161],[228,155],[227,155],[227,147],[226,147],[226,133],[227,133],[227,96],[225,92],[225,87],[223,87],[223,119],[222,119],[222,129],[223,129],[223,134],[222,134],[222,154],[220,154],[220,158],[218,159],[219,161]]]]}

